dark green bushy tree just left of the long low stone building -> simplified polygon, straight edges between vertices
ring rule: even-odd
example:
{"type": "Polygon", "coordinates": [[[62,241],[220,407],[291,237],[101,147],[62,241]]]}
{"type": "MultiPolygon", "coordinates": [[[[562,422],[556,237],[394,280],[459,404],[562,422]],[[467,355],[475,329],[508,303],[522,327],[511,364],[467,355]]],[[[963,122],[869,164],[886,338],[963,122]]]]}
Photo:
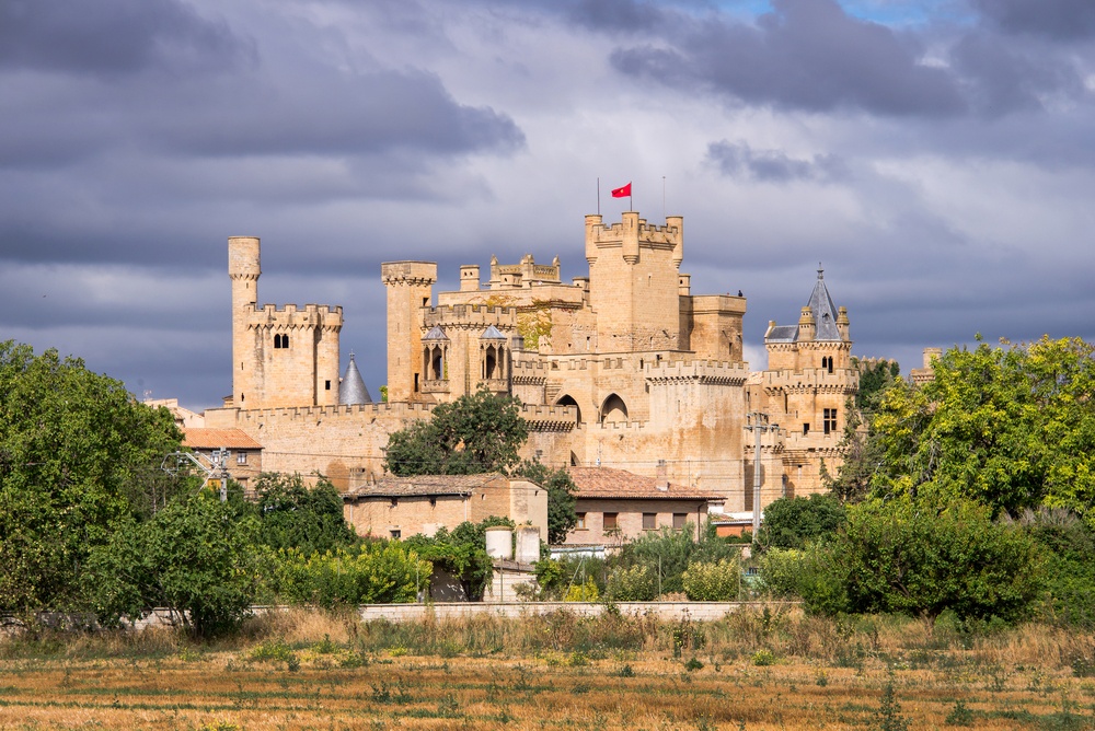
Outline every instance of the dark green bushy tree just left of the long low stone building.
{"type": "Polygon", "coordinates": [[[309,488],[299,474],[263,473],[255,481],[258,542],[303,555],[333,550],[357,542],[343,515],[338,488],[320,477],[309,488]]]}

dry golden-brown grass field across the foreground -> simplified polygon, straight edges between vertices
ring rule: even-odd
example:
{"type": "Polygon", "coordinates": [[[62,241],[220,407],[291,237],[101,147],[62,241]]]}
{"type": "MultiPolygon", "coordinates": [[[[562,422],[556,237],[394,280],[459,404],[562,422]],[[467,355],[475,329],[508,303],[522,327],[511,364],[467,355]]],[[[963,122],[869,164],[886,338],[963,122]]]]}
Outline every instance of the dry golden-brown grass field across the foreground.
{"type": "Polygon", "coordinates": [[[1090,675],[1092,637],[1037,625],[295,611],[211,643],[0,641],[0,729],[1095,729],[1090,675]]]}

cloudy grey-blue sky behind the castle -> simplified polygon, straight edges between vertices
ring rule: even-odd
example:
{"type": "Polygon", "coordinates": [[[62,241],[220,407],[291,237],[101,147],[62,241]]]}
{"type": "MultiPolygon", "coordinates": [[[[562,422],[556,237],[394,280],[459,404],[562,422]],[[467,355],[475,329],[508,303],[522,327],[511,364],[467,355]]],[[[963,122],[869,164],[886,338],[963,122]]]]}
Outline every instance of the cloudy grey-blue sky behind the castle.
{"type": "Polygon", "coordinates": [[[627,182],[753,369],[819,264],[906,372],[1095,338],[1095,3],[0,0],[0,341],[138,396],[231,393],[228,236],[262,302],[343,306],[378,397],[381,262],[569,281],[627,182]]]}

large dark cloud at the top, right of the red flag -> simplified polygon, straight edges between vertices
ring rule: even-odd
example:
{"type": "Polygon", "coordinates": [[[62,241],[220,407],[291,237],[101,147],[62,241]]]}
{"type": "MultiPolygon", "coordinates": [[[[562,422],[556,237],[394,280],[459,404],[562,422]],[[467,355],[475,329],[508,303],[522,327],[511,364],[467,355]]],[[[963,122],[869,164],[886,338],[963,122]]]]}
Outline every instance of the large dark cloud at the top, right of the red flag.
{"type": "Polygon", "coordinates": [[[756,26],[710,19],[682,26],[671,47],[618,49],[622,73],[700,88],[747,104],[883,115],[948,116],[965,102],[944,69],[890,28],[850,16],[833,0],[773,0],[756,26]]]}

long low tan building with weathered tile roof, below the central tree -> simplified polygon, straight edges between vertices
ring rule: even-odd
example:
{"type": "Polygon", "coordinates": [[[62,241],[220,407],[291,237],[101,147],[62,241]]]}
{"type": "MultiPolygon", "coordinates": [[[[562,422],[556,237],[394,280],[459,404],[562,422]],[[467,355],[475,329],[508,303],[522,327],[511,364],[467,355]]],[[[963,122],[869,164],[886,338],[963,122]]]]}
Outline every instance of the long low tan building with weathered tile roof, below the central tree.
{"type": "Polygon", "coordinates": [[[497,515],[530,524],[548,539],[548,490],[498,473],[385,477],[344,494],[343,506],[358,535],[434,535],[497,515]]]}

